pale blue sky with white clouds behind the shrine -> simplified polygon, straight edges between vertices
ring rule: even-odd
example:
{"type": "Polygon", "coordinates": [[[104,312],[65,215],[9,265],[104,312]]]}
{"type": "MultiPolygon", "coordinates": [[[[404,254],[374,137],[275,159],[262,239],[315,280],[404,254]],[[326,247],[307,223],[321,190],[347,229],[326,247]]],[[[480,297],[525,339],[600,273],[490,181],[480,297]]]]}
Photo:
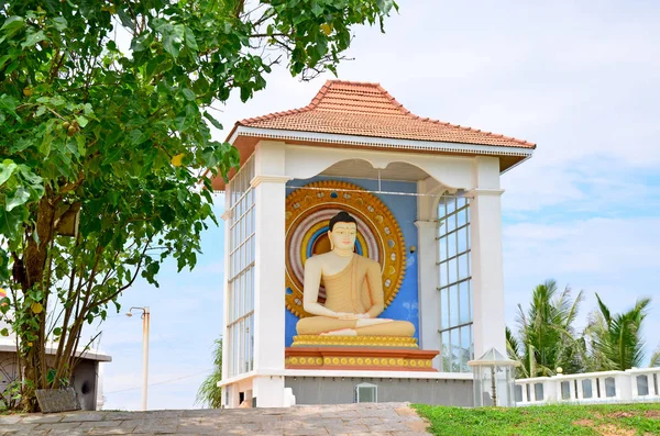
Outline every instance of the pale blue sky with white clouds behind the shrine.
{"type": "MultiPolygon", "coordinates": [[[[584,291],[578,326],[597,292],[615,312],[640,297],[647,359],[660,345],[660,5],[649,1],[400,1],[377,27],[356,29],[344,80],[380,82],[420,116],[538,144],[506,172],[503,245],[506,322],[547,279],[584,291]]],[[[237,120],[305,107],[326,79],[276,68],[243,104],[234,96],[217,116],[237,120]]],[[[223,211],[222,198],[216,204],[223,211]]],[[[221,221],[221,220],[220,220],[221,221]]],[[[161,288],[135,284],[122,314],[100,326],[107,410],[138,410],[142,383],[140,317],[150,306],[150,409],[195,407],[222,325],[223,228],[204,235],[193,272],[167,262],[161,288]]]]}

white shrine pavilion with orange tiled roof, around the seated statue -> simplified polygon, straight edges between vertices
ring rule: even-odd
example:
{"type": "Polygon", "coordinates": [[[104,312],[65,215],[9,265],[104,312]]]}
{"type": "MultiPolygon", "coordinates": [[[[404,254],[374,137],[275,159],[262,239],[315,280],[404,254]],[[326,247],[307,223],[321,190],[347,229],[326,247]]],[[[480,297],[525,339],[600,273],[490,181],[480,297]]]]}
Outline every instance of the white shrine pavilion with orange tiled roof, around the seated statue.
{"type": "Polygon", "coordinates": [[[420,118],[377,83],[341,80],[305,108],[237,122],[228,142],[240,170],[213,181],[226,192],[224,405],[345,403],[365,385],[375,401],[472,405],[468,361],[506,355],[499,178],[536,145],[420,118]],[[341,354],[337,342],[326,342],[334,354],[289,353],[307,315],[302,265],[328,249],[327,221],[342,209],[358,217],[358,253],[381,262],[383,316],[414,323],[432,360],[396,344],[392,358],[341,354]]]}

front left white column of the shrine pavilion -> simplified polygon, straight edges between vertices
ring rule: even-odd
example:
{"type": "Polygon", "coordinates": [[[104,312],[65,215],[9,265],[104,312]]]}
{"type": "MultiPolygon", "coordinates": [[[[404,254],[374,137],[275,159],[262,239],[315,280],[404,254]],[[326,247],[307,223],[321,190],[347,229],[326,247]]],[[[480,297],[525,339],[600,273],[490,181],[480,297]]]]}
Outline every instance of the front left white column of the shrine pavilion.
{"type": "Polygon", "coordinates": [[[283,405],[284,378],[258,377],[284,371],[285,200],[284,143],[260,142],[255,150],[255,278],[253,395],[257,407],[283,405]]]}

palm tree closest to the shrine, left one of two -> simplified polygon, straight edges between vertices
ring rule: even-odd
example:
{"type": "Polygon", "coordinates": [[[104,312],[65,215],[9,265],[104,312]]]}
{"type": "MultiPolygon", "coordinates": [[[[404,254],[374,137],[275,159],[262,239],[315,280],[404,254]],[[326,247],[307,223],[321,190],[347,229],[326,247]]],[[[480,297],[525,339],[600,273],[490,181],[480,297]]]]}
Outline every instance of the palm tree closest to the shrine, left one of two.
{"type": "Polygon", "coordinates": [[[537,286],[527,314],[518,304],[517,336],[507,327],[507,354],[520,362],[519,377],[553,376],[557,368],[566,373],[583,366],[584,343],[575,338],[573,323],[582,302],[582,291],[571,300],[571,289],[558,292],[557,282],[537,286]]]}

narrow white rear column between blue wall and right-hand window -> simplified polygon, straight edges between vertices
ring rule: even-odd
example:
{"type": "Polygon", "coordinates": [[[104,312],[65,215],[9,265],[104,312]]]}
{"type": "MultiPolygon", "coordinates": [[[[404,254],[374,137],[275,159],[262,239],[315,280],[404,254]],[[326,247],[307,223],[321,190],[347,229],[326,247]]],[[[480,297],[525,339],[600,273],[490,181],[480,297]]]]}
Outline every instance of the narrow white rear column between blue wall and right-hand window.
{"type": "MultiPolygon", "coordinates": [[[[440,349],[440,292],[438,292],[438,233],[436,221],[416,221],[417,266],[419,271],[419,347],[440,349]]],[[[440,369],[440,356],[433,359],[433,368],[440,369]]]]}

